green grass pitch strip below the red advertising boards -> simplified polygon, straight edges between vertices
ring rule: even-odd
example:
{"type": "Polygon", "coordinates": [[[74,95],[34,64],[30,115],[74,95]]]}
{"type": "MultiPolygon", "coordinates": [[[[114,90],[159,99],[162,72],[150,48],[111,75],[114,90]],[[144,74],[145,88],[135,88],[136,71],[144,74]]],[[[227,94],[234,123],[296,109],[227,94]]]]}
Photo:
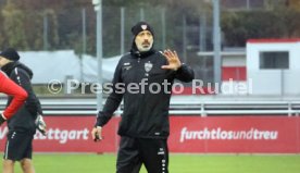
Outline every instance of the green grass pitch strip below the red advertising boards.
{"type": "MultiPolygon", "coordinates": [[[[115,159],[115,155],[35,153],[34,165],[37,173],[114,173],[115,159]]],[[[300,155],[171,155],[170,172],[299,173],[300,155]]],[[[21,173],[18,163],[15,173],[21,173]]],[[[147,173],[145,168],[140,173],[147,173]]]]}

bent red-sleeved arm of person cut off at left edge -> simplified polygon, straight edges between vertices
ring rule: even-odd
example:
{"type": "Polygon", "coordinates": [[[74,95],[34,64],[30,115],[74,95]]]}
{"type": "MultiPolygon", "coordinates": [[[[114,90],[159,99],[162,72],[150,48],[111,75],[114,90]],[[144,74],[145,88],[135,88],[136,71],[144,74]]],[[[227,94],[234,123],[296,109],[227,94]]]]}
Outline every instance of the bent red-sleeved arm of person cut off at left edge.
{"type": "Polygon", "coordinates": [[[27,99],[27,92],[11,81],[2,71],[0,71],[0,92],[13,96],[11,103],[4,109],[0,116],[0,125],[3,124],[23,106],[27,99]]]}

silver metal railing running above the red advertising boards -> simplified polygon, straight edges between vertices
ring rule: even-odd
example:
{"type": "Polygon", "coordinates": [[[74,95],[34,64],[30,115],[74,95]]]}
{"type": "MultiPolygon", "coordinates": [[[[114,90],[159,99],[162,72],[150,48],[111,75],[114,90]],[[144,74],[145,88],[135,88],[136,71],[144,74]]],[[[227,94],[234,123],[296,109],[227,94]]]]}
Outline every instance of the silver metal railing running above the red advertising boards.
{"type": "MultiPolygon", "coordinates": [[[[97,104],[95,98],[86,99],[41,99],[46,115],[95,115],[97,104]]],[[[5,101],[0,100],[0,110],[5,101]]],[[[123,104],[115,112],[122,114],[123,104]]],[[[246,100],[210,100],[203,99],[172,99],[171,115],[287,115],[300,114],[300,101],[246,101],[246,100]]]]}

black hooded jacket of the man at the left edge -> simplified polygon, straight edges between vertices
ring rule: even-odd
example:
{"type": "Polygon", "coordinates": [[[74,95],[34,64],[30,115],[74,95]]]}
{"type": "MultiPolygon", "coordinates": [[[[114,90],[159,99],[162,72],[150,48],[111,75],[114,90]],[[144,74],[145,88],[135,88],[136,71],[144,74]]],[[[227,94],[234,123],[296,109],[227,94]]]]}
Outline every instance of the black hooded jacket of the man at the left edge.
{"type": "MultiPolygon", "coordinates": [[[[35,120],[37,114],[42,114],[42,110],[39,99],[36,97],[32,87],[30,79],[33,77],[33,71],[18,61],[8,63],[2,67],[2,71],[28,94],[23,107],[8,120],[9,131],[21,131],[34,134],[36,132],[35,120]]],[[[11,100],[12,98],[9,98],[8,103],[11,100]]]]}

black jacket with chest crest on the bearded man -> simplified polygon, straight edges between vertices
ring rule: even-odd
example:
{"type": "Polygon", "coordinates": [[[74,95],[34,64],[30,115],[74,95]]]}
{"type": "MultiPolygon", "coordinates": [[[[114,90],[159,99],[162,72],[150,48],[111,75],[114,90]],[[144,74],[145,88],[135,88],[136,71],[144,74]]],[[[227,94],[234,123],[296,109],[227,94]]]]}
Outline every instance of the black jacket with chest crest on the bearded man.
{"type": "Polygon", "coordinates": [[[98,113],[96,125],[105,125],[124,99],[118,135],[137,138],[167,138],[172,85],[163,85],[163,83],[173,84],[175,78],[191,82],[193,71],[186,64],[177,71],[161,69],[165,64],[167,64],[166,59],[154,50],[143,54],[132,51],[123,55],[115,69],[112,82],[113,91],[108,97],[103,110],[98,113]],[[142,82],[146,84],[145,89],[140,85],[142,82]],[[132,92],[126,89],[129,86],[134,88],[132,92]],[[167,89],[163,89],[166,88],[163,86],[167,86],[167,89]],[[158,92],[160,87],[160,92],[158,92]]]}

